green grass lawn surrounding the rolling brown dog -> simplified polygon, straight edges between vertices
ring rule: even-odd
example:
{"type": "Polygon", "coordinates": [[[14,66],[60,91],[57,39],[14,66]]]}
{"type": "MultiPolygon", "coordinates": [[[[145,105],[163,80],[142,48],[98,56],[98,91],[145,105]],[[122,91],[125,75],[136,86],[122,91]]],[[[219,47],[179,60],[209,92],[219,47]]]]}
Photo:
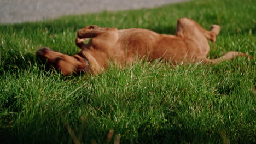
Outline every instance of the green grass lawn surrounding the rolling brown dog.
{"type": "Polygon", "coordinates": [[[121,143],[256,143],[255,14],[255,1],[199,0],[1,25],[1,143],[73,143],[67,125],[83,143],[103,143],[109,130],[121,143]],[[210,58],[231,50],[254,58],[175,68],[138,62],[63,77],[35,57],[42,46],[79,52],[75,35],[86,25],[174,34],[181,17],[222,27],[210,58]]]}

